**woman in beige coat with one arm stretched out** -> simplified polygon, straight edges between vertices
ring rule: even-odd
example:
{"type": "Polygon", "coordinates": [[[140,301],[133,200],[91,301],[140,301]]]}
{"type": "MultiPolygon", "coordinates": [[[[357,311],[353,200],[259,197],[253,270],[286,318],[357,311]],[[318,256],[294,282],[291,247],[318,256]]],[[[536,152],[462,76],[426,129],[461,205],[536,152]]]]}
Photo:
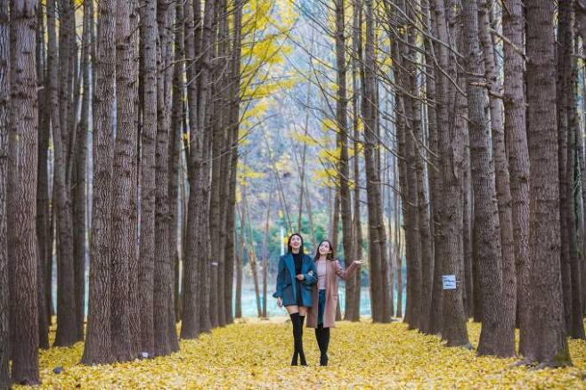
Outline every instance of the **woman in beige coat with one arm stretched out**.
{"type": "Polygon", "coordinates": [[[328,365],[328,345],[330,328],[336,326],[336,307],[338,305],[338,277],[347,280],[362,264],[354,260],[346,271],[334,257],[330,241],[321,241],[315,254],[317,284],[313,285],[313,306],[307,313],[307,327],[315,329],[315,338],[320,348],[320,365],[328,365]]]}

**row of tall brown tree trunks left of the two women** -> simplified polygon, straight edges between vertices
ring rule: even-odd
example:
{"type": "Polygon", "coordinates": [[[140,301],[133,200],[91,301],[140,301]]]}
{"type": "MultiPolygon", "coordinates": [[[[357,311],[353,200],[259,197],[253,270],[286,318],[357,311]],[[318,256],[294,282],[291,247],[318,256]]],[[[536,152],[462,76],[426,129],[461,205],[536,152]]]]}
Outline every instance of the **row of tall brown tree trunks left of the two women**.
{"type": "Polygon", "coordinates": [[[2,388],[39,383],[53,258],[53,344],[85,338],[85,364],[233,321],[244,2],[95,5],[81,38],[73,0],[0,5],[2,388]]]}

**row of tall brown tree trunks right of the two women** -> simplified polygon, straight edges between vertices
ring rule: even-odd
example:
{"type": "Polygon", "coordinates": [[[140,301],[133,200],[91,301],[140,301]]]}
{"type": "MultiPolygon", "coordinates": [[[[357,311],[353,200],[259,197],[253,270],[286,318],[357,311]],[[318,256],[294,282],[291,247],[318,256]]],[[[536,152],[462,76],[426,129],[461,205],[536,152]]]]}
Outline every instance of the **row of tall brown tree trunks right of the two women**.
{"type": "MultiPolygon", "coordinates": [[[[356,7],[362,5],[356,3],[354,17],[360,18],[356,7]]],[[[551,2],[540,0],[525,2],[525,12],[515,0],[502,6],[467,1],[461,7],[452,0],[383,3],[381,15],[364,0],[365,30],[359,29],[366,41],[353,53],[363,55],[373,321],[388,321],[393,308],[393,283],[389,289],[378,280],[387,277],[382,267],[389,263],[376,153],[388,147],[397,156],[403,200],[404,321],[410,329],[441,334],[447,345],[470,346],[466,322],[474,314],[482,321],[478,354],[514,356],[517,326],[525,362],[571,364],[566,336],[584,338],[574,9],[577,16],[583,11],[563,2],[556,13],[551,2]],[[390,40],[384,53],[376,52],[378,27],[390,40]],[[503,61],[497,60],[500,50],[503,61]],[[378,55],[390,56],[390,73],[378,55]],[[377,85],[388,86],[394,102],[387,113],[394,118],[387,129],[395,134],[390,143],[380,136],[377,85]],[[455,288],[443,278],[455,278],[455,288]]],[[[344,44],[343,37],[338,43],[344,44]]],[[[340,52],[338,109],[345,110],[340,52]]],[[[338,126],[346,134],[341,114],[338,126]]],[[[340,160],[343,189],[344,151],[340,160]]],[[[387,222],[391,234],[390,215],[387,222]]]]}

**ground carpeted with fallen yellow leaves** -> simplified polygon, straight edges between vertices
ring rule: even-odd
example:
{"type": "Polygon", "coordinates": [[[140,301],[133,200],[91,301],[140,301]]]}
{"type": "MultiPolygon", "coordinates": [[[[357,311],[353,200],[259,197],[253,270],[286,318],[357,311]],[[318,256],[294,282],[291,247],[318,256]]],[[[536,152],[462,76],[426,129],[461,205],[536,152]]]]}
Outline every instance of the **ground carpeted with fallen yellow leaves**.
{"type": "MultiPolygon", "coordinates": [[[[516,359],[476,357],[474,351],[447,348],[438,337],[409,331],[402,322],[387,325],[340,322],[332,329],[330,366],[318,366],[313,329],[304,329],[309,367],[290,367],[291,328],[284,318],[247,321],[197,340],[182,341],[181,352],[157,359],[85,367],[78,364],[83,344],[52,348],[40,357],[46,388],[339,388],[522,387],[584,388],[586,342],[570,340],[574,367],[529,370],[516,359]],[[63,367],[61,374],[53,368],[63,367]]],[[[469,323],[473,345],[480,325],[469,323]]]]}

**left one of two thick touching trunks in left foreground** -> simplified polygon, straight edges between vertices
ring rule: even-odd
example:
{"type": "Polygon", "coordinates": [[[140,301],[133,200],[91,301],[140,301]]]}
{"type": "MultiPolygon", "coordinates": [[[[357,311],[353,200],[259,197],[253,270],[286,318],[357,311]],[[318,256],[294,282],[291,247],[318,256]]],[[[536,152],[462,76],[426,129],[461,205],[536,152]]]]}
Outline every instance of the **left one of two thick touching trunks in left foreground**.
{"type": "Polygon", "coordinates": [[[89,305],[85,348],[81,362],[114,362],[110,330],[111,214],[114,159],[114,97],[116,89],[116,9],[113,0],[102,0],[99,7],[98,39],[94,57],[94,202],[89,305]]]}

